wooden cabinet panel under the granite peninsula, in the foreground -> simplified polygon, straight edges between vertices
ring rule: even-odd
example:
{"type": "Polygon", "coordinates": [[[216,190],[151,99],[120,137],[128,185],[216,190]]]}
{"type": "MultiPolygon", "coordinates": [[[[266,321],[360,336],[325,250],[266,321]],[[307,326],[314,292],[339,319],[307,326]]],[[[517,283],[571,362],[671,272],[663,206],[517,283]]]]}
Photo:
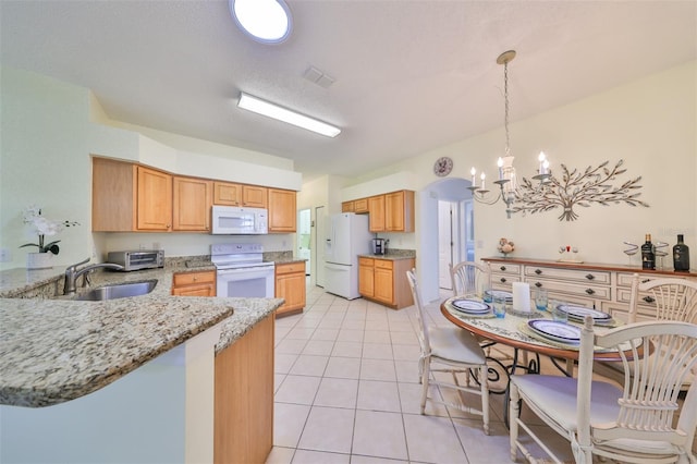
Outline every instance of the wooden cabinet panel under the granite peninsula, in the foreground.
{"type": "Polygon", "coordinates": [[[259,463],[273,447],[273,315],[216,355],[213,463],[259,463]]]}

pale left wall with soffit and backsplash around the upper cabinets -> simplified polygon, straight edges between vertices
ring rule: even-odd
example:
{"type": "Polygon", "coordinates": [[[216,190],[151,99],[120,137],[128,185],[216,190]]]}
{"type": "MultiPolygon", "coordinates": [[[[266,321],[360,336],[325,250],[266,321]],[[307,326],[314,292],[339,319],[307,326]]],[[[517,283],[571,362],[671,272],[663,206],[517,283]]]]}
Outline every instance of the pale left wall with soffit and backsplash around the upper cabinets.
{"type": "Polygon", "coordinates": [[[40,206],[50,219],[81,224],[47,237],[61,241],[53,260],[57,268],[86,257],[101,260],[108,251],[137,249],[140,245],[161,246],[167,256],[208,254],[210,244],[220,242],[258,242],[266,251],[293,249],[292,234],[93,234],[90,155],[140,161],[184,175],[230,181],[244,175],[247,183],[258,180],[259,184],[291,190],[301,187],[302,175],[288,170],[292,161],[282,158],[257,154],[265,163],[260,167],[248,162],[253,159],[249,150],[149,132],[160,137],[156,141],[132,130],[103,125],[103,111],[88,89],[8,66],[0,68],[0,248],[11,255],[10,261],[0,262],[0,270],[25,267],[26,254],[36,251],[20,248],[37,242],[22,223],[22,210],[30,204],[40,206]]]}

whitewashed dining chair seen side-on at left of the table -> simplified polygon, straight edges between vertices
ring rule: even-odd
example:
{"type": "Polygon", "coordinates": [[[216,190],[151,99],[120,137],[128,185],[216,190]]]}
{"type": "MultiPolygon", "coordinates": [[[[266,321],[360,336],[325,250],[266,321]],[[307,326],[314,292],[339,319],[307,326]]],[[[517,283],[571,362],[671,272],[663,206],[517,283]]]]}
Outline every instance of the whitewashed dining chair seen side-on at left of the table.
{"type": "MultiPolygon", "coordinates": [[[[418,342],[420,356],[418,359],[421,381],[421,414],[426,414],[426,400],[445,406],[458,408],[468,414],[480,415],[484,422],[484,432],[489,435],[489,387],[487,382],[487,359],[477,339],[466,330],[457,327],[431,326],[426,321],[421,295],[416,282],[416,270],[406,271],[406,278],[412,288],[416,318],[418,319],[418,342]],[[473,383],[469,370],[476,370],[478,382],[473,383]],[[433,376],[435,373],[445,373],[452,376],[452,382],[443,380],[444,376],[433,376]],[[465,383],[461,383],[458,375],[464,375],[465,383]],[[458,402],[440,400],[431,394],[428,396],[429,386],[454,390],[458,402]],[[481,407],[469,406],[463,393],[474,393],[481,396],[481,407]]],[[[442,395],[444,399],[445,395],[442,395]]]]}

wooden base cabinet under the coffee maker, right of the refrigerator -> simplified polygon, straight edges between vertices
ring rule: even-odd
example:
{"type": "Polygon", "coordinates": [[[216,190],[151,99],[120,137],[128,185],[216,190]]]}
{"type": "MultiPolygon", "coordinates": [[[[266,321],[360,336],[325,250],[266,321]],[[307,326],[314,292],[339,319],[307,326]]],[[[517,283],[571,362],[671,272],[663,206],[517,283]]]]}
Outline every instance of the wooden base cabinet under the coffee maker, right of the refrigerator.
{"type": "Polygon", "coordinates": [[[406,271],[414,268],[414,258],[358,258],[358,293],[394,309],[412,306],[414,298],[406,271]],[[372,267],[370,265],[372,264],[372,267]],[[370,279],[372,277],[372,280],[370,279]]]}

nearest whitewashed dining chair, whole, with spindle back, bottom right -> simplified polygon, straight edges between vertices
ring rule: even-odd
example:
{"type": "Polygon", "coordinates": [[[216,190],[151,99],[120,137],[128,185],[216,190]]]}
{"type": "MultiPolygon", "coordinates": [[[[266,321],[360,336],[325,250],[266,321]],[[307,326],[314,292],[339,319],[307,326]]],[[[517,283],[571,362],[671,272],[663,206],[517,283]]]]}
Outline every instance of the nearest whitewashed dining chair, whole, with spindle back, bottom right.
{"type": "Polygon", "coordinates": [[[525,424],[522,404],[571,442],[575,462],[592,456],[631,463],[697,463],[692,454],[697,424],[697,387],[682,407],[678,393],[697,365],[697,326],[678,321],[644,321],[594,332],[590,316],[580,334],[578,377],[515,375],[511,378],[511,460],[519,450],[536,459],[518,437],[519,429],[553,460],[545,440],[525,424]],[[627,371],[624,387],[594,380],[594,350],[619,353],[627,371]],[[651,356],[643,354],[652,352],[651,356]],[[633,376],[628,375],[632,366],[633,376]],[[675,424],[675,425],[674,425],[675,424]]]}

